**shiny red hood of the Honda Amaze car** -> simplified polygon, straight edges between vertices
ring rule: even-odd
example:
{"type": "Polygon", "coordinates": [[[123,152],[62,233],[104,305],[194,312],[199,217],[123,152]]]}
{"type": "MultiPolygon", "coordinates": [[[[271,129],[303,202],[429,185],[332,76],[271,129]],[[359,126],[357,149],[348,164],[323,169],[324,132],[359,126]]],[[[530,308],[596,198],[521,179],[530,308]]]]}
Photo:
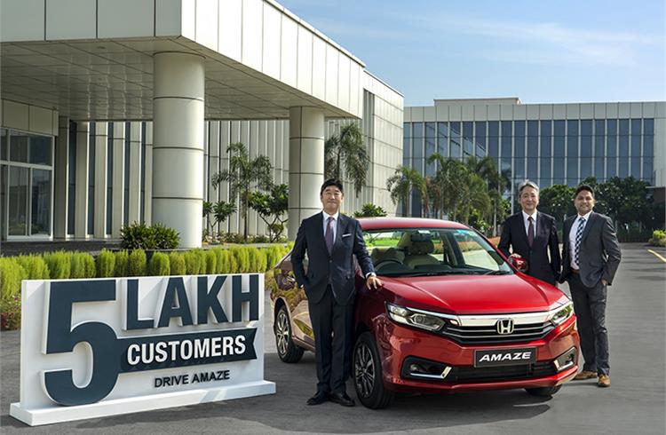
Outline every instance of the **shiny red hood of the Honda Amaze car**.
{"type": "Polygon", "coordinates": [[[527,275],[381,277],[398,305],[455,314],[543,312],[566,302],[559,289],[527,275]]]}

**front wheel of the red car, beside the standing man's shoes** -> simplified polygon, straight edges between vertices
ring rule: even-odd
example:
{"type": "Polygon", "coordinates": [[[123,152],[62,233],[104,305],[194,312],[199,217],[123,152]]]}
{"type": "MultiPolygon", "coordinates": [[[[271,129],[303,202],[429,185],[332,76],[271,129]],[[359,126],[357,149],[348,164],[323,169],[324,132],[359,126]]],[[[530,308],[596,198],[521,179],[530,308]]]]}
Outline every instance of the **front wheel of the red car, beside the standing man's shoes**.
{"type": "Polygon", "coordinates": [[[353,386],[364,407],[382,409],[391,405],[395,393],[385,387],[381,358],[371,332],[356,339],[352,367],[353,386]]]}

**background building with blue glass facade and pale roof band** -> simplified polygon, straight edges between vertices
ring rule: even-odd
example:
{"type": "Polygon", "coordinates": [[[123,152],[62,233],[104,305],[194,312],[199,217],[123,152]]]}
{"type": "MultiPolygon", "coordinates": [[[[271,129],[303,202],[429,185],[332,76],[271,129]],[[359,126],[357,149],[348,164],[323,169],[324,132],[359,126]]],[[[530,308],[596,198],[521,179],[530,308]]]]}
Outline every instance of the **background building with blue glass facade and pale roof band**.
{"type": "MultiPolygon", "coordinates": [[[[655,147],[664,147],[657,123],[664,103],[522,105],[518,99],[435,100],[405,107],[403,165],[432,176],[427,158],[490,156],[516,189],[525,179],[540,187],[576,186],[632,176],[655,185],[655,147]],[[638,107],[637,107],[638,105],[638,107]]],[[[412,216],[420,214],[415,195],[412,216]]]]}

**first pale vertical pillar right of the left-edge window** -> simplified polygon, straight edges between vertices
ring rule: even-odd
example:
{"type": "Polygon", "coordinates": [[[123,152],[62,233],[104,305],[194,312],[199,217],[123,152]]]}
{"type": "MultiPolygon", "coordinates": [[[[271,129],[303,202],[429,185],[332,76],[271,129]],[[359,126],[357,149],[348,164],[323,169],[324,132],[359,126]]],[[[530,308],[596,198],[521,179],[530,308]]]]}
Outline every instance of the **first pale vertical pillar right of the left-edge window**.
{"type": "Polygon", "coordinates": [[[90,123],[76,123],[75,239],[88,238],[88,154],[90,123]]]}

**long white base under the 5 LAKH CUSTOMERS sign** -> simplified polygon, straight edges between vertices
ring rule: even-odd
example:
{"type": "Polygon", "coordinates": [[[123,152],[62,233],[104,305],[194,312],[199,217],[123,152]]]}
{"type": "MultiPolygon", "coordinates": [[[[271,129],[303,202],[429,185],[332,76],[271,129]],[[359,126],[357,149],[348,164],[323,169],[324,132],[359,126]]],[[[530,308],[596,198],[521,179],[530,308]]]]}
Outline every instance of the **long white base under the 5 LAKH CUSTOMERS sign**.
{"type": "Polygon", "coordinates": [[[9,415],[30,426],[70,422],[109,415],[130,414],[152,411],[165,407],[185,407],[199,403],[221,400],[242,399],[251,396],[274,394],[275,384],[268,381],[249,382],[229,387],[189,390],[186,392],[165,392],[152,396],[129,399],[105,400],[91,405],[77,407],[24,408],[20,403],[12,403],[9,415]]]}

